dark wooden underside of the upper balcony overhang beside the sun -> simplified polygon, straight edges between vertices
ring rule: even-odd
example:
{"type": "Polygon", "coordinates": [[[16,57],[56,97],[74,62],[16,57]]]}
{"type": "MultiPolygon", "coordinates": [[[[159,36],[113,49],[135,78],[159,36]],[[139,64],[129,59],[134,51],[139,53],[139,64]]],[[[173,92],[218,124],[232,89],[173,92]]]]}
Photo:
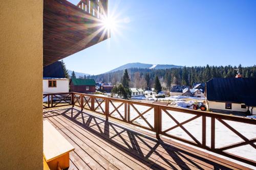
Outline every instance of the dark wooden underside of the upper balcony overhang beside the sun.
{"type": "MultiPolygon", "coordinates": [[[[107,14],[108,1],[102,6],[107,14]]],[[[45,0],[43,20],[44,66],[110,37],[99,18],[65,0],[45,0]]]]}

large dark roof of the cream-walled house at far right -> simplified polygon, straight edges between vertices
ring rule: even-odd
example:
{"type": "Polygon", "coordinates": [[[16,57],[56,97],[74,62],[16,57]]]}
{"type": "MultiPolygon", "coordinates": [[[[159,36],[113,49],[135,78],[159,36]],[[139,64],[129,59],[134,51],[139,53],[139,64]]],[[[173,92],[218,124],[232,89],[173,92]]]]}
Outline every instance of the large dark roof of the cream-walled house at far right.
{"type": "Polygon", "coordinates": [[[256,78],[213,78],[206,83],[208,101],[256,106],[256,78]]]}

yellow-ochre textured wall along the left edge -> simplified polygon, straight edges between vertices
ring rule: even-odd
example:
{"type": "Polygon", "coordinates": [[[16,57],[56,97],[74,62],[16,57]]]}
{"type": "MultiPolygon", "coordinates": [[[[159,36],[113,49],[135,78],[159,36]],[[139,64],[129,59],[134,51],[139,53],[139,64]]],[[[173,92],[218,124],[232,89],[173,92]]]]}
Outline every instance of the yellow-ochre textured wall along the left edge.
{"type": "Polygon", "coordinates": [[[0,1],[0,169],[42,169],[42,11],[0,1]]]}

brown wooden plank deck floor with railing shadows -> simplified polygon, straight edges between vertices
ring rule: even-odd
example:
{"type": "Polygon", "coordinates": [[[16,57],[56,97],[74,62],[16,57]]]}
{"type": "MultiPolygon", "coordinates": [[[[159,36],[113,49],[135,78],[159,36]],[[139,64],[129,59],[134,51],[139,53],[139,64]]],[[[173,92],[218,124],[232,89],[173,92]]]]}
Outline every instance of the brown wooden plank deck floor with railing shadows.
{"type": "Polygon", "coordinates": [[[248,169],[75,108],[45,110],[44,119],[75,147],[69,169],[248,169]]]}

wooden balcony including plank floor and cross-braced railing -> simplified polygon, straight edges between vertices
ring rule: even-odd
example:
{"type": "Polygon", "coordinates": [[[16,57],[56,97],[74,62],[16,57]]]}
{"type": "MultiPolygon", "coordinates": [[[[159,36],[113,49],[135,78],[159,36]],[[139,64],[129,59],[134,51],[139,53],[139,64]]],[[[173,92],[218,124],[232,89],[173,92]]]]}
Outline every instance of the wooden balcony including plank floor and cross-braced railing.
{"type": "Polygon", "coordinates": [[[244,145],[255,152],[255,134],[249,138],[234,128],[234,123],[255,127],[254,119],[74,92],[44,94],[43,98],[44,119],[75,147],[71,169],[250,169],[227,157],[250,167],[256,165],[253,158],[245,158],[247,152],[229,152],[244,145]],[[181,121],[175,114],[190,118],[181,121]],[[166,128],[166,116],[176,125],[169,122],[166,128]],[[201,123],[197,129],[200,137],[186,127],[195,119],[201,123]],[[218,123],[227,128],[226,136],[234,133],[242,141],[225,144],[226,136],[217,140],[218,123]],[[176,128],[191,140],[169,133],[176,128]],[[219,147],[220,143],[224,145],[219,147]]]}

